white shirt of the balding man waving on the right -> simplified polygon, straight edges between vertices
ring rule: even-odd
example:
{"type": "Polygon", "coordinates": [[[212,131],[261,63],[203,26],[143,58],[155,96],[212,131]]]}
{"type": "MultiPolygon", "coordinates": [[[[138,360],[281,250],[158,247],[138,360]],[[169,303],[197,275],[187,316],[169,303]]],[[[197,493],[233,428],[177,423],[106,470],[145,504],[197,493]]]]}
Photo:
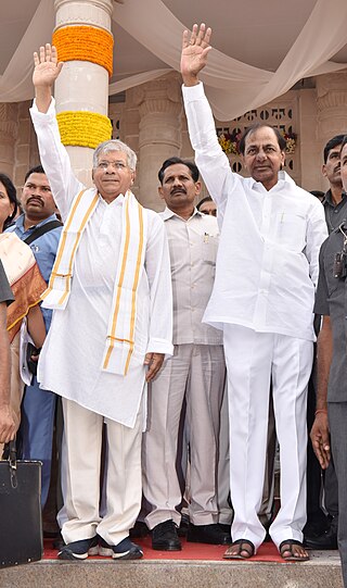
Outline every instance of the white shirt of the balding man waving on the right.
{"type": "Polygon", "coordinates": [[[284,172],[271,190],[232,173],[203,84],[183,86],[195,161],[221,227],[215,287],[204,321],[314,340],[318,255],[324,209],[284,172]]]}

